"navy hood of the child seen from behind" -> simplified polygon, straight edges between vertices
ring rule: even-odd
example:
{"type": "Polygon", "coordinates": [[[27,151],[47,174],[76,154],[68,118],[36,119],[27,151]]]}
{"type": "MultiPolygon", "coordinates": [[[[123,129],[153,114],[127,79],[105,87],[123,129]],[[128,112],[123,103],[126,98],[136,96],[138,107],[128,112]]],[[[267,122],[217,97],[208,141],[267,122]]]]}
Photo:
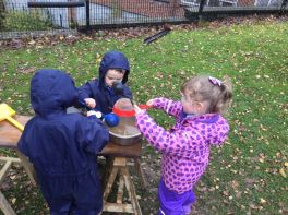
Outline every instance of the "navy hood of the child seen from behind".
{"type": "Polygon", "coordinates": [[[74,81],[63,71],[38,70],[31,81],[31,104],[37,115],[65,111],[76,99],[74,81]]]}

